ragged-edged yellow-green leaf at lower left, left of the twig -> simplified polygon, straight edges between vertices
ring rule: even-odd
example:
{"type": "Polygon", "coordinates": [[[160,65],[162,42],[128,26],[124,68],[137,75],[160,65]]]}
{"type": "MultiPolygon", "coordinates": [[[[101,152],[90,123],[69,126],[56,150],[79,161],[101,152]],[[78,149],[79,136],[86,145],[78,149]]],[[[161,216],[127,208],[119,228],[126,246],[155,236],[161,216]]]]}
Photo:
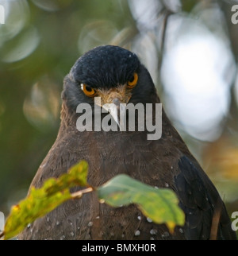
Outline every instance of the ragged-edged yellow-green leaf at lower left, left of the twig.
{"type": "Polygon", "coordinates": [[[86,161],[81,161],[78,165],[74,165],[68,173],[59,176],[57,180],[50,178],[44,182],[41,188],[32,187],[25,200],[11,209],[10,215],[6,219],[4,239],[13,238],[29,223],[33,223],[35,219],[46,215],[59,204],[71,199],[70,188],[87,186],[87,170],[86,161]]]}

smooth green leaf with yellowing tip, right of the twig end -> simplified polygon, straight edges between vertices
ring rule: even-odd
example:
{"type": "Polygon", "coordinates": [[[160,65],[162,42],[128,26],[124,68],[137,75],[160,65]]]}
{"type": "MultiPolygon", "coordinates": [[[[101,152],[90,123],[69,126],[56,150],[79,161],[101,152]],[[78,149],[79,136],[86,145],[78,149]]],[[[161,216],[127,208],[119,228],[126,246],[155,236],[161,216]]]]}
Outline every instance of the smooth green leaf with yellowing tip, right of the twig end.
{"type": "Polygon", "coordinates": [[[171,232],[183,226],[185,215],[178,207],[178,198],[171,189],[153,188],[124,174],[115,176],[97,189],[101,202],[113,207],[136,204],[153,222],[166,223],[171,232]]]}

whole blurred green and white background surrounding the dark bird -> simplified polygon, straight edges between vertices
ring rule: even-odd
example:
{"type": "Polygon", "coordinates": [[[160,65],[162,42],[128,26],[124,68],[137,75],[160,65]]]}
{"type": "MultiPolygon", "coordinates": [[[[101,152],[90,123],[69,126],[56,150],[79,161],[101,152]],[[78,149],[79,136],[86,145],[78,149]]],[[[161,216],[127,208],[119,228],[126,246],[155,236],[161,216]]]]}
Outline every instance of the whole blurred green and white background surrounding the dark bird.
{"type": "Polygon", "coordinates": [[[238,1],[0,5],[0,211],[7,215],[25,197],[56,139],[63,77],[84,52],[109,44],[140,56],[163,107],[230,215],[238,211],[238,15],[232,11],[238,1]]]}

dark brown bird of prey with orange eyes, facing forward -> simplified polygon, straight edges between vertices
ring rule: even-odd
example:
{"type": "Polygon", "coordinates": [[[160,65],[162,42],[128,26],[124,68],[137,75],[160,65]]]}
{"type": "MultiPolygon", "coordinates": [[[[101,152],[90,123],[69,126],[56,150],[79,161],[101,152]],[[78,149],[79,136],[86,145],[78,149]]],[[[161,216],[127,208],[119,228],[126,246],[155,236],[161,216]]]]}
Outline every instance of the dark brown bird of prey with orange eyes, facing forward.
{"type": "MultiPolygon", "coordinates": [[[[165,112],[159,139],[148,140],[146,129],[82,131],[76,125],[83,114],[77,107],[88,103],[94,117],[96,97],[101,97],[99,107],[160,103],[152,78],[135,53],[113,45],[86,52],[64,79],[59,133],[31,186],[39,188],[44,180],[66,173],[84,159],[89,164],[88,182],[94,187],[125,173],[145,184],[171,188],[185,212],[185,226],[175,227],[171,234],[135,205],[111,208],[100,204],[92,192],[36,219],[18,239],[211,239],[211,234],[213,239],[236,239],[217,189],[165,112]]],[[[116,120],[115,113],[111,114],[116,120]]]]}

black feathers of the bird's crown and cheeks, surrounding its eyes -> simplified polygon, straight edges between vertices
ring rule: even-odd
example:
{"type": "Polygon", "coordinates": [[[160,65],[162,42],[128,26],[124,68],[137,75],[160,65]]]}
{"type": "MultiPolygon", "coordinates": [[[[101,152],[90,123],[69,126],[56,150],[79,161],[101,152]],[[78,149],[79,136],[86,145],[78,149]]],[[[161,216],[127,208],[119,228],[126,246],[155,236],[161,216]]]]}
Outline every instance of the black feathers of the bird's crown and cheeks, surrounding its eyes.
{"type": "Polygon", "coordinates": [[[139,80],[132,91],[130,103],[157,102],[152,78],[136,54],[113,45],[93,48],[75,62],[64,80],[62,99],[69,111],[75,111],[79,103],[93,105],[94,99],[83,94],[81,83],[95,89],[109,89],[128,83],[134,72],[138,73],[139,80]]]}

